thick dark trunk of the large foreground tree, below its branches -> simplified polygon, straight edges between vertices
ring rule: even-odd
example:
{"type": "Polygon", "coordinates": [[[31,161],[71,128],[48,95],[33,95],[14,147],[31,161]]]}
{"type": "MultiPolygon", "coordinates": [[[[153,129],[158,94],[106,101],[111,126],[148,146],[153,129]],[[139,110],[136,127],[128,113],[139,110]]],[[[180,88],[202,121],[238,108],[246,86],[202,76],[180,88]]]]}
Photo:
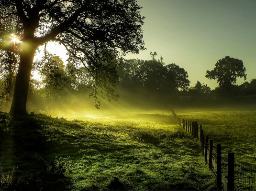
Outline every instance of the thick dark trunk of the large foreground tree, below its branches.
{"type": "Polygon", "coordinates": [[[27,95],[35,50],[36,48],[22,50],[20,54],[21,60],[10,110],[10,114],[13,117],[25,116],[27,114],[27,95]]]}

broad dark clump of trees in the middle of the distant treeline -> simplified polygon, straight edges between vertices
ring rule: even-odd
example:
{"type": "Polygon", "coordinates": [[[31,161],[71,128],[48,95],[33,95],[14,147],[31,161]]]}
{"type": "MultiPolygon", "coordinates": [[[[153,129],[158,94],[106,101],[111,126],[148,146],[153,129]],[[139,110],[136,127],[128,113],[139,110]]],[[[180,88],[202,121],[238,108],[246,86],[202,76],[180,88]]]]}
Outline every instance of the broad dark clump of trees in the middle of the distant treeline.
{"type": "Polygon", "coordinates": [[[122,84],[131,87],[145,87],[154,91],[187,90],[190,81],[188,72],[172,63],[163,65],[156,60],[123,60],[120,71],[122,84]]]}

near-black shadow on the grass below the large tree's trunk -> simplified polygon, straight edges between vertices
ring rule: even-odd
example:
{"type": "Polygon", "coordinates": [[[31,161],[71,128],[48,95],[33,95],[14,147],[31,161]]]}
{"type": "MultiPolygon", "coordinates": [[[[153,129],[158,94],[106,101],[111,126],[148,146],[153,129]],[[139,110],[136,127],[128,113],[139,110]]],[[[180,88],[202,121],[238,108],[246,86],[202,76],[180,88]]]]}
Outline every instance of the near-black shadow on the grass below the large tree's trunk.
{"type": "Polygon", "coordinates": [[[32,115],[19,121],[3,113],[0,117],[0,190],[66,190],[67,163],[47,155],[52,145],[46,143],[42,125],[32,115]]]}

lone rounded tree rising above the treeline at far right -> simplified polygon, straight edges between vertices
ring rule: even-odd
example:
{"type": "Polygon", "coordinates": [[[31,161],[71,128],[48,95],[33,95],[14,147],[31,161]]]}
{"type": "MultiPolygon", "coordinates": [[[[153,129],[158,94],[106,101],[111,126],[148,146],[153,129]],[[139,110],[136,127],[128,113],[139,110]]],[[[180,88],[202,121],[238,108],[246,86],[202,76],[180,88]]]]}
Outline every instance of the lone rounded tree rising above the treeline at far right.
{"type": "Polygon", "coordinates": [[[245,67],[242,60],[226,56],[217,61],[213,70],[207,70],[205,77],[210,80],[217,79],[220,87],[229,89],[232,84],[236,83],[237,77],[246,80],[245,67]]]}

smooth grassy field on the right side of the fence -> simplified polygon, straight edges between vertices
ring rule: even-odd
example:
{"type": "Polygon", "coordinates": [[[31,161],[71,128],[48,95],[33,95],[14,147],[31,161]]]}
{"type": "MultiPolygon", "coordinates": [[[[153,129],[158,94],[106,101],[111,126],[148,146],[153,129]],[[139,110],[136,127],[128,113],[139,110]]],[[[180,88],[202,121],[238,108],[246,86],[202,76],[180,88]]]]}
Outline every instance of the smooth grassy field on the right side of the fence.
{"type": "Polygon", "coordinates": [[[214,144],[222,144],[223,155],[256,168],[256,111],[178,111],[178,117],[198,121],[214,144]]]}

